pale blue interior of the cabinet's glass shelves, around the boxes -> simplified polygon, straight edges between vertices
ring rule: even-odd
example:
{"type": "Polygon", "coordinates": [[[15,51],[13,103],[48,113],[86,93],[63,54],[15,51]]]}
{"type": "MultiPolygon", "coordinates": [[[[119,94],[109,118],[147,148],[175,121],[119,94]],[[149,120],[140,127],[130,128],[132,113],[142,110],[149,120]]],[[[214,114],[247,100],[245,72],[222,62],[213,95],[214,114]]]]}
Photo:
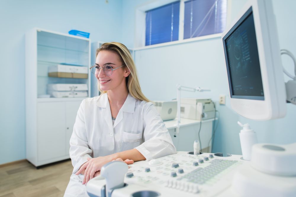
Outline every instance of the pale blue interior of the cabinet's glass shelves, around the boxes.
{"type": "Polygon", "coordinates": [[[89,75],[86,79],[48,76],[49,67],[58,64],[89,68],[89,54],[88,40],[45,31],[37,32],[37,94],[48,94],[47,85],[54,83],[88,84],[89,87],[89,75]]]}

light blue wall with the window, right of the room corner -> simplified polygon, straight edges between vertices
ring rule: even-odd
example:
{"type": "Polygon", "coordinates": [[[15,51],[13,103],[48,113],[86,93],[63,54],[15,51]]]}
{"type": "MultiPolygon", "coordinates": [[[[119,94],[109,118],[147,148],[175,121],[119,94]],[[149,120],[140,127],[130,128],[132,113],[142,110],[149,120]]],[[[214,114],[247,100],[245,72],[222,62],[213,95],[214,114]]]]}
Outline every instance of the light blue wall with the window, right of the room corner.
{"type": "MultiPolygon", "coordinates": [[[[135,9],[151,1],[124,1],[123,4],[123,41],[133,46],[135,9]]],[[[239,13],[246,0],[232,0],[231,19],[239,13]]],[[[293,8],[296,1],[272,1],[279,28],[281,48],[289,49],[296,55],[293,8]]],[[[292,72],[292,62],[284,57],[292,72]]],[[[195,41],[172,46],[145,49],[135,52],[135,62],[139,72],[141,88],[151,100],[170,100],[176,98],[176,84],[189,87],[210,88],[209,93],[182,92],[182,97],[210,97],[218,101],[220,94],[226,95],[226,105],[217,104],[220,112],[218,129],[215,135],[213,152],[241,154],[237,121],[250,123],[258,133],[260,143],[292,143],[296,141],[296,106],[287,104],[286,117],[279,120],[253,121],[236,114],[230,106],[227,74],[224,64],[221,38],[195,41]]]]}

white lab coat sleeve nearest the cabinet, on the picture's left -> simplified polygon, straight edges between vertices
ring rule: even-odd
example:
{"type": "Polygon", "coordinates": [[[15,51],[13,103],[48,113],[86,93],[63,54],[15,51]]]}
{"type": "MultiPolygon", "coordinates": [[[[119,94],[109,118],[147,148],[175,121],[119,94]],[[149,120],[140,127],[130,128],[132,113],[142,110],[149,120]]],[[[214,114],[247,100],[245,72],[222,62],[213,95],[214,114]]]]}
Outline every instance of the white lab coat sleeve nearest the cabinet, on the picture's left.
{"type": "Polygon", "coordinates": [[[81,165],[87,162],[87,158],[91,158],[92,154],[86,135],[84,107],[85,100],[81,102],[78,109],[73,133],[70,138],[70,158],[74,167],[73,173],[76,173],[81,165]]]}

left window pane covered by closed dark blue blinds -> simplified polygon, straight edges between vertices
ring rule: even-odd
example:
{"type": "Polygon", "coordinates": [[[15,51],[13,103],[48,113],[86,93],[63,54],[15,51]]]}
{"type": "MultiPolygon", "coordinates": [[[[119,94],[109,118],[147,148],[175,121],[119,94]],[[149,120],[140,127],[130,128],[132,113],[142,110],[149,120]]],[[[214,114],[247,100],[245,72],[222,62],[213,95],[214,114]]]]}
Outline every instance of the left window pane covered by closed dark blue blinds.
{"type": "Polygon", "coordinates": [[[146,12],[145,45],[178,40],[180,1],[146,12]]]}

